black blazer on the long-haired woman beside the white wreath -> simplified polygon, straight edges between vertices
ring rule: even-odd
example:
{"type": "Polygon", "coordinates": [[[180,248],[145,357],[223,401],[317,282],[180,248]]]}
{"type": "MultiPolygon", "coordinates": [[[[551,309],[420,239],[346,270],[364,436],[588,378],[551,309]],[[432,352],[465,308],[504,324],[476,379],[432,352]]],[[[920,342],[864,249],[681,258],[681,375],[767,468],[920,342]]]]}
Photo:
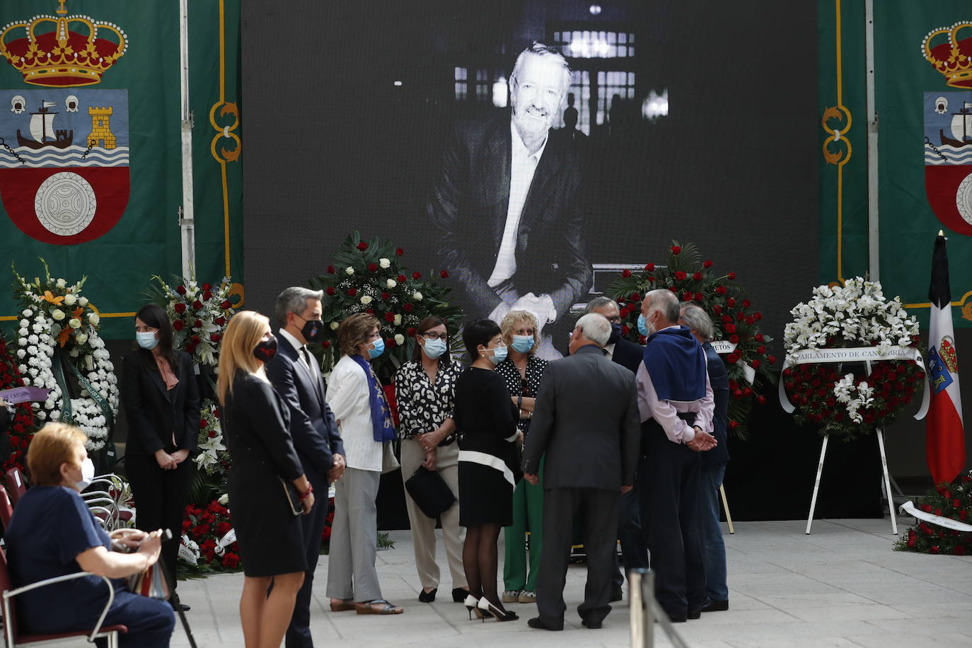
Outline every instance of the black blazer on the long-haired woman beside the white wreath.
{"type": "Polygon", "coordinates": [[[199,388],[192,370],[192,357],[176,351],[172,372],[179,384],[171,392],[165,389],[156,360],[147,353],[134,351],[122,363],[121,402],[128,420],[125,457],[152,455],[172,444],[176,449],[195,450],[199,437],[199,388]]]}

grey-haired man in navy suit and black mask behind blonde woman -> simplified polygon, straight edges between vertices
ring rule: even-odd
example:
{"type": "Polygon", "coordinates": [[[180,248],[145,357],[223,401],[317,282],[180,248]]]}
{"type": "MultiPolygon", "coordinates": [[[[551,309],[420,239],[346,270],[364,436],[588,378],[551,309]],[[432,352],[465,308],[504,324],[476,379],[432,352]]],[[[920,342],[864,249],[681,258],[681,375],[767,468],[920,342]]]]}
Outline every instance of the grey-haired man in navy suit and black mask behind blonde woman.
{"type": "Polygon", "coordinates": [[[266,376],[287,403],[291,414],[291,436],[297,457],[318,504],[301,516],[307,572],[297,593],[294,616],[287,629],[287,648],[314,645],[310,635],[310,600],[314,570],[321,553],[321,533],[328,519],[328,487],[344,472],[344,446],[330,412],[324,377],[317,360],[307,351],[308,342],[321,339],[320,290],[289,288],[277,297],[275,314],[281,324],[277,355],[266,363],[266,376]]]}

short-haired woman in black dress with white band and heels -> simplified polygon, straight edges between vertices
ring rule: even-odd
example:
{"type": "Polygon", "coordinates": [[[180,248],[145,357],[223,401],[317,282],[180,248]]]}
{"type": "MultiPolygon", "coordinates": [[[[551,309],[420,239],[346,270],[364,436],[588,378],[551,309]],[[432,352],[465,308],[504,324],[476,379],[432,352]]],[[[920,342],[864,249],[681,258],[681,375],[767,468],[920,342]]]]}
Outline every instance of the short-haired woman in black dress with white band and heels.
{"type": "Polygon", "coordinates": [[[469,583],[466,607],[499,621],[517,615],[503,609],[497,593],[497,539],[513,521],[513,487],[522,477],[517,444],[516,408],[506,384],[493,367],[506,357],[500,327],[477,320],[463,329],[472,360],[456,381],[456,428],[459,440],[459,524],[467,528],[463,567],[469,583]]]}

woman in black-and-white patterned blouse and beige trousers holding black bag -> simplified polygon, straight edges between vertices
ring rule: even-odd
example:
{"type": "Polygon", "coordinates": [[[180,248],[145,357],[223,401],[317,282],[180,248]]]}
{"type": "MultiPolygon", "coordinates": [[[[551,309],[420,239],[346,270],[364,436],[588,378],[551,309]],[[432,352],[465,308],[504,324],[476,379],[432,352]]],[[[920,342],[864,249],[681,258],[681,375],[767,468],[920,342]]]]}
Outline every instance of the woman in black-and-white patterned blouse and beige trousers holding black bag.
{"type": "MultiPolygon", "coordinates": [[[[463,542],[466,531],[459,526],[459,444],[452,410],[456,379],[462,365],[449,356],[449,332],[445,322],[429,317],[415,335],[415,353],[395,374],[395,397],[399,405],[401,439],[401,479],[407,481],[420,465],[436,470],[449,486],[456,501],[442,513],[445,555],[452,573],[452,599],[463,601],[469,595],[463,569],[463,542]]],[[[438,591],[438,564],[435,563],[435,520],[418,507],[405,492],[408,522],[412,529],[415,566],[422,593],[419,600],[430,603],[438,591]]]]}

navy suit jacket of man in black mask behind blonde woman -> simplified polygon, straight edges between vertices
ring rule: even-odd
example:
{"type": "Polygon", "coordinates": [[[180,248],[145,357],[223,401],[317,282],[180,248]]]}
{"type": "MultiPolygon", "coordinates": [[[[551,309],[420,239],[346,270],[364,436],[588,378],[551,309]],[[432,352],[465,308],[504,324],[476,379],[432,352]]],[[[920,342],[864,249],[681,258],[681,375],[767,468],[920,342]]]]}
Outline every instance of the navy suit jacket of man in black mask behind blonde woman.
{"type": "Polygon", "coordinates": [[[327,476],[333,455],[344,455],[344,445],[330,412],[321,368],[311,357],[310,370],[300,363],[290,341],[277,336],[277,355],[265,365],[266,377],[290,411],[290,432],[304,472],[310,469],[327,476]]]}

